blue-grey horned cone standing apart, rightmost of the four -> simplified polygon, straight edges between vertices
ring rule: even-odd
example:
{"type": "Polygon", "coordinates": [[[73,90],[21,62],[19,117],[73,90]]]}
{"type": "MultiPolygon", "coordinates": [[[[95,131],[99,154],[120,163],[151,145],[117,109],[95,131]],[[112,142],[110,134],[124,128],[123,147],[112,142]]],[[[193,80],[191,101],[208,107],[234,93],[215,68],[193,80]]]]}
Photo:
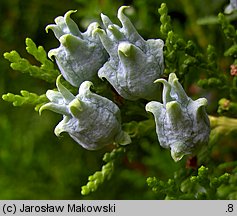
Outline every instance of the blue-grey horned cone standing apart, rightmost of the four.
{"type": "Polygon", "coordinates": [[[179,161],[208,142],[210,123],[205,110],[207,100],[199,98],[193,101],[189,98],[174,73],[169,75],[168,82],[165,79],[156,82],[164,85],[163,104],[151,101],[146,110],[155,117],[160,145],[170,148],[172,158],[179,161]]]}

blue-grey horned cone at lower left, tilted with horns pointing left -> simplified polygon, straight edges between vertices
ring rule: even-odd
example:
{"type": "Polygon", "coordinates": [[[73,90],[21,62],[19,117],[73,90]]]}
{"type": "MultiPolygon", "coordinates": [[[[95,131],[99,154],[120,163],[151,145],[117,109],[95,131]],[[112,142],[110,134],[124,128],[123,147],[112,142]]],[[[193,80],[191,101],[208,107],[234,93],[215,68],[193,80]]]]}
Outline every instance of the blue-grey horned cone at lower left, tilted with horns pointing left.
{"type": "Polygon", "coordinates": [[[74,96],[57,79],[58,91],[48,90],[49,103],[39,112],[49,109],[63,115],[63,120],[54,132],[59,136],[67,132],[78,144],[88,150],[97,150],[115,143],[126,145],[131,142],[121,129],[120,110],[112,101],[92,93],[92,82],[84,81],[74,96]]]}

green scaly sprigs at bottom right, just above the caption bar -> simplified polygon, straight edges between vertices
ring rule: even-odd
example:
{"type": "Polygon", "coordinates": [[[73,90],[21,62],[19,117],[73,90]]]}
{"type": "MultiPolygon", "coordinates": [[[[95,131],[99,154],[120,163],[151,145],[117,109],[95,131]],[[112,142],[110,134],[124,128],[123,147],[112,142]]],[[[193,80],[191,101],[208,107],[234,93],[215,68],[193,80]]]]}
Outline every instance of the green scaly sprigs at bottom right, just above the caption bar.
{"type": "Polygon", "coordinates": [[[208,168],[201,166],[197,175],[187,177],[183,181],[180,179],[180,176],[176,176],[162,181],[149,177],[147,184],[159,199],[223,199],[218,189],[229,184],[230,174],[212,176],[208,168]]]}

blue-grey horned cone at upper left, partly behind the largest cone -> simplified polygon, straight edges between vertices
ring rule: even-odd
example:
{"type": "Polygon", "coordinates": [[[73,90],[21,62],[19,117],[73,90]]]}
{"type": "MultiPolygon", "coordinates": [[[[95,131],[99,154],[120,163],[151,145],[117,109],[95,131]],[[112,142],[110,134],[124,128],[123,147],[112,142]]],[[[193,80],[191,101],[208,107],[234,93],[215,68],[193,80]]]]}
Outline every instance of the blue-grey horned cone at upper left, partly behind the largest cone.
{"type": "Polygon", "coordinates": [[[46,27],[52,29],[60,46],[49,51],[55,57],[63,77],[73,86],[79,87],[85,80],[94,81],[97,71],[108,59],[98,35],[93,31],[99,24],[94,22],[86,32],[81,33],[77,24],[70,18],[75,11],[68,11],[64,17],[55,19],[56,24],[46,27]]]}

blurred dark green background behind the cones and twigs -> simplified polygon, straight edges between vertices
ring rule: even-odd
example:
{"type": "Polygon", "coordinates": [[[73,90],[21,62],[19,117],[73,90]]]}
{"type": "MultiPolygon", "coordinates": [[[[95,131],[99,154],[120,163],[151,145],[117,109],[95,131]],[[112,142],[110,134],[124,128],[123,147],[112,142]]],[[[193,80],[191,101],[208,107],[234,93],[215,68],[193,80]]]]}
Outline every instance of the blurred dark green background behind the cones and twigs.
{"type": "MultiPolygon", "coordinates": [[[[0,94],[28,90],[43,94],[54,88],[28,75],[13,71],[3,53],[18,51],[21,56],[35,60],[25,51],[25,38],[30,37],[46,51],[58,46],[50,31],[45,32],[54,18],[71,9],[81,31],[92,21],[100,22],[100,13],[108,15],[115,23],[117,10],[121,5],[131,5],[126,12],[138,32],[145,38],[160,38],[159,14],[161,3],[169,8],[175,31],[184,39],[194,40],[200,49],[212,43],[221,50],[218,43],[219,25],[199,25],[198,20],[216,16],[229,3],[225,0],[1,0],[0,1],[0,94]]],[[[224,68],[225,69],[225,68],[224,68]]],[[[57,138],[53,129],[61,116],[44,112],[39,116],[33,107],[13,107],[0,101],[0,199],[153,199],[148,191],[146,178],[159,175],[167,179],[184,162],[175,164],[169,151],[158,144],[147,145],[147,152],[132,163],[116,169],[111,180],[89,196],[81,195],[81,186],[87,177],[103,165],[102,157],[108,149],[91,152],[81,148],[66,134],[57,138]],[[164,156],[159,157],[160,152],[164,156]],[[167,167],[169,167],[167,169],[167,167]]],[[[144,150],[143,149],[143,150],[144,150]]],[[[136,158],[136,157],[134,157],[136,158]]]]}

